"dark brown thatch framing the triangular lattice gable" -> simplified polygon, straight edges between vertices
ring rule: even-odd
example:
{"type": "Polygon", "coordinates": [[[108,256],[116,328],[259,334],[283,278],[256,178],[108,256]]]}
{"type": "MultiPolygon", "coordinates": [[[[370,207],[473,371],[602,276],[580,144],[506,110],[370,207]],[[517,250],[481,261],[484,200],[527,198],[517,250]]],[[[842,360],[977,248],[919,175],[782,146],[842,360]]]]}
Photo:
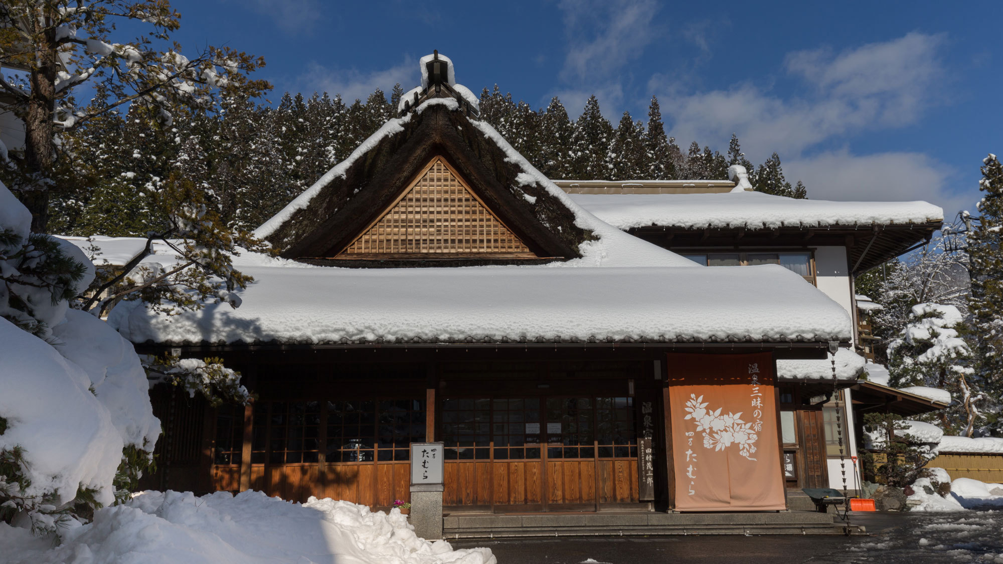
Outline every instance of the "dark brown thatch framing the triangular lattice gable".
{"type": "MultiPolygon", "coordinates": [[[[538,256],[578,258],[579,245],[595,238],[592,232],[577,227],[574,213],[544,187],[519,186],[516,177],[528,171],[507,163],[501,149],[462,112],[440,104],[426,106],[421,113],[412,114],[403,128],[355,161],[344,178],[335,178],[322,187],[307,207],[293,213],[266,240],[284,258],[333,257],[374,221],[436,155],[442,156],[487,208],[538,256]],[[536,198],[536,202],[530,203],[520,192],[536,198]]],[[[444,266],[441,261],[401,263],[444,266]]]]}

